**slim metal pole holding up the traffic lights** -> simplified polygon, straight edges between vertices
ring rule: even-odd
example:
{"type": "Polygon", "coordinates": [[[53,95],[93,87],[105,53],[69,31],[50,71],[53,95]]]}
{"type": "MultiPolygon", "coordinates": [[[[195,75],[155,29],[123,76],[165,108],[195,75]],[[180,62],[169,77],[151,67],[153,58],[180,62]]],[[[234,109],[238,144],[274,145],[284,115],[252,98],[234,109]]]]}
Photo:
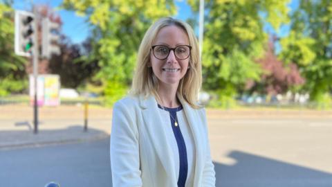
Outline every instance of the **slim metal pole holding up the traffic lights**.
{"type": "Polygon", "coordinates": [[[34,86],[35,86],[35,97],[34,97],[34,104],[33,104],[33,124],[35,127],[34,133],[38,133],[38,103],[37,103],[37,78],[38,78],[38,41],[37,41],[37,35],[38,35],[38,30],[37,30],[37,12],[36,9],[33,7],[33,14],[35,15],[35,20],[33,24],[33,49],[32,49],[32,54],[31,57],[33,58],[33,81],[34,81],[34,86]]]}

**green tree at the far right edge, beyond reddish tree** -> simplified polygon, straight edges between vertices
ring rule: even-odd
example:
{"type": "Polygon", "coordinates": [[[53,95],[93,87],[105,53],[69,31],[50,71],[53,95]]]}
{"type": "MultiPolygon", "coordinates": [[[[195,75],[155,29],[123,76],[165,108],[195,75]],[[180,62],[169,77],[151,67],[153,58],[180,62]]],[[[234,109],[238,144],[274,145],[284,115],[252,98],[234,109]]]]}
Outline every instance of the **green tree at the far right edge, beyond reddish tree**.
{"type": "Polygon", "coordinates": [[[332,1],[302,0],[291,19],[291,31],[280,41],[280,57],[299,66],[306,79],[303,90],[310,93],[311,100],[331,105],[332,1]]]}

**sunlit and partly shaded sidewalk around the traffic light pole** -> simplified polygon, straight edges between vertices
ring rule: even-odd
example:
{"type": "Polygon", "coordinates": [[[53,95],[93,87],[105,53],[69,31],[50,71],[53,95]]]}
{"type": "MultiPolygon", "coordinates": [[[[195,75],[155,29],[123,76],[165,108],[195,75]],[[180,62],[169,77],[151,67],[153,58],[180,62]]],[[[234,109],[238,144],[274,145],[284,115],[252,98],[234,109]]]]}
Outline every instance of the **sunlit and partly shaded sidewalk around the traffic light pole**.
{"type": "Polygon", "coordinates": [[[111,132],[111,114],[111,109],[90,107],[88,130],[84,132],[82,106],[39,107],[39,126],[35,134],[32,107],[2,105],[0,150],[107,139],[111,132]]]}

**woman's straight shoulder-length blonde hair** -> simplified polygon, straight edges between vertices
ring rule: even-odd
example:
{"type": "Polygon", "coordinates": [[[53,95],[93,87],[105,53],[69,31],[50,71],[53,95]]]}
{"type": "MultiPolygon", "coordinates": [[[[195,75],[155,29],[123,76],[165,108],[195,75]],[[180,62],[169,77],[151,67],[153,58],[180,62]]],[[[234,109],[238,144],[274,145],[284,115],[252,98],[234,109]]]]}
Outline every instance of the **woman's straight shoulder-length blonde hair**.
{"type": "Polygon", "coordinates": [[[149,68],[149,62],[151,44],[154,42],[159,30],[165,26],[178,26],[178,28],[185,31],[189,38],[190,46],[192,46],[189,60],[190,69],[187,70],[185,76],[180,80],[176,95],[182,100],[185,100],[191,107],[199,108],[200,106],[197,101],[199,89],[201,89],[202,84],[202,70],[198,42],[189,24],[178,19],[173,19],[172,17],[159,19],[152,24],[145,33],[140,43],[140,48],[138,49],[136,71],[133,75],[133,82],[129,93],[145,97],[152,94],[160,100],[157,92],[159,86],[158,78],[154,75],[152,68],[149,68]]]}

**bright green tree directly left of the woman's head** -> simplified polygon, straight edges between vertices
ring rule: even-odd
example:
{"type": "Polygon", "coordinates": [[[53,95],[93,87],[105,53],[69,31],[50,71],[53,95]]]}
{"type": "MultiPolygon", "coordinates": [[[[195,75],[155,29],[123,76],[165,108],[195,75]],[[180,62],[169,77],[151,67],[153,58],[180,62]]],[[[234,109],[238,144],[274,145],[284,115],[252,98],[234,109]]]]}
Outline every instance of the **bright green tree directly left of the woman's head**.
{"type": "Polygon", "coordinates": [[[136,53],[147,28],[152,21],[175,13],[170,0],[65,0],[62,7],[85,15],[93,28],[94,49],[89,58],[98,60],[95,80],[112,97],[110,104],[131,84],[136,53]]]}

